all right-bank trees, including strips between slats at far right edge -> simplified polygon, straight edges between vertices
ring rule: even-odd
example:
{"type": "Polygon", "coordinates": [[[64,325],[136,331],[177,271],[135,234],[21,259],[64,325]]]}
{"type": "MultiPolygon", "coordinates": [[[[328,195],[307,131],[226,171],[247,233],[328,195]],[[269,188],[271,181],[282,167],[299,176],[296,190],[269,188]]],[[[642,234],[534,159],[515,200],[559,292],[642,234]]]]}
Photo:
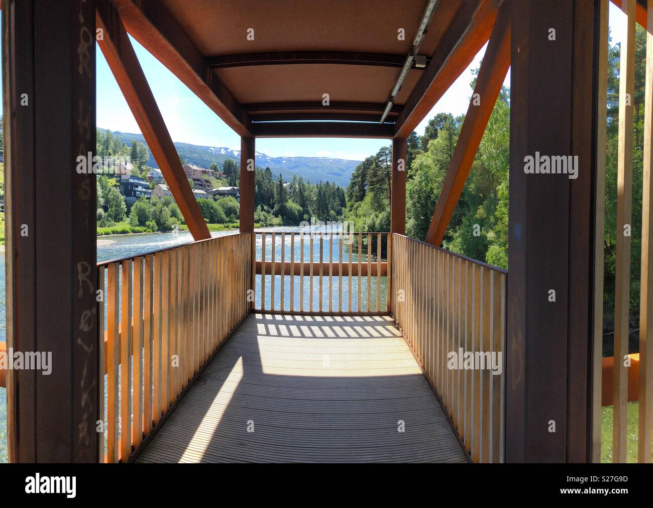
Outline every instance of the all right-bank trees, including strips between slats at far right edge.
{"type": "MultiPolygon", "coordinates": [[[[633,97],[633,208],[631,219],[631,340],[637,351],[642,225],[646,30],[637,25],[635,42],[635,97],[633,97]]],[[[616,180],[618,153],[618,96],[620,44],[610,44],[607,94],[607,156],[605,195],[604,355],[611,356],[614,329],[616,257],[616,180]],[[608,340],[610,339],[610,340],[608,340]]],[[[470,83],[470,97],[475,80],[470,83]]],[[[428,121],[423,136],[407,139],[406,234],[423,240],[451,162],[464,116],[439,113],[428,121]]],[[[470,176],[449,223],[442,247],[507,268],[508,166],[510,146],[510,90],[503,87],[470,176]],[[475,228],[479,225],[479,228],[475,228]],[[475,229],[480,234],[475,236],[475,229]]],[[[353,172],[347,187],[345,219],[354,230],[388,231],[390,228],[390,147],[365,159],[353,172]]]]}

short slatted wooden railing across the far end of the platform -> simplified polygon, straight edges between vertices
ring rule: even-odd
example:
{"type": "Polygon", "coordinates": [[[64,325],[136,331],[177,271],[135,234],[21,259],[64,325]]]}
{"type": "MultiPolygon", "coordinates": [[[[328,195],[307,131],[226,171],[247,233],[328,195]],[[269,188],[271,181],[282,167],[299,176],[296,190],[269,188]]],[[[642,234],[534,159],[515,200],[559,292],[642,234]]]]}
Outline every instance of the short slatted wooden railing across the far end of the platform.
{"type": "Polygon", "coordinates": [[[280,313],[388,311],[388,233],[257,232],[255,309],[280,313]]]}

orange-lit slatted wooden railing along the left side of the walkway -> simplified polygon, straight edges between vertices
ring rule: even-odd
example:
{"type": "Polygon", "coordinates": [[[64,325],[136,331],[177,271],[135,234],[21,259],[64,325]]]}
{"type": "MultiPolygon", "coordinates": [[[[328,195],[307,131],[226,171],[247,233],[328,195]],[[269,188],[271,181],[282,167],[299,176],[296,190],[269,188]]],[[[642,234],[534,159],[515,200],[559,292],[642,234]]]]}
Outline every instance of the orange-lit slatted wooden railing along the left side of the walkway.
{"type": "Polygon", "coordinates": [[[250,259],[251,234],[234,234],[98,264],[106,462],[144,445],[247,314],[250,259]]]}

